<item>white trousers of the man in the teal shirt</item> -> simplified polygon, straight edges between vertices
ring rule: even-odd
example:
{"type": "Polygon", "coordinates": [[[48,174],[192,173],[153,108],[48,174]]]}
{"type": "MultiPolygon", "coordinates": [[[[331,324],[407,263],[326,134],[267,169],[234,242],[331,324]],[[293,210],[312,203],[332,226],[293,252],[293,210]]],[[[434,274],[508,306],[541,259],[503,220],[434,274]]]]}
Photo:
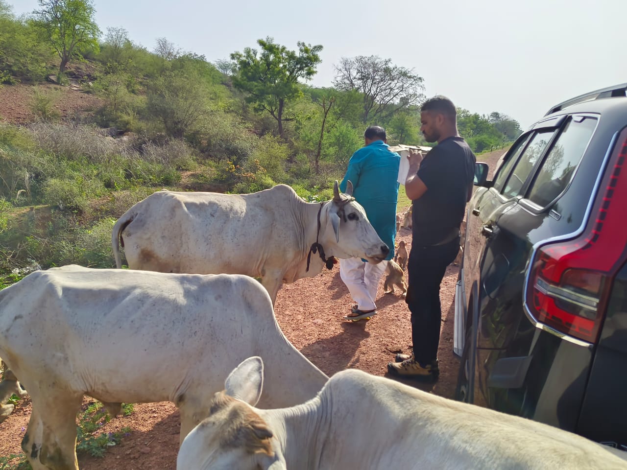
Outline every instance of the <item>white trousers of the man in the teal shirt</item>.
{"type": "Polygon", "coordinates": [[[349,288],[350,296],[359,310],[374,310],[377,306],[379,279],[386,270],[387,261],[378,264],[364,263],[361,258],[340,259],[340,278],[349,288]]]}

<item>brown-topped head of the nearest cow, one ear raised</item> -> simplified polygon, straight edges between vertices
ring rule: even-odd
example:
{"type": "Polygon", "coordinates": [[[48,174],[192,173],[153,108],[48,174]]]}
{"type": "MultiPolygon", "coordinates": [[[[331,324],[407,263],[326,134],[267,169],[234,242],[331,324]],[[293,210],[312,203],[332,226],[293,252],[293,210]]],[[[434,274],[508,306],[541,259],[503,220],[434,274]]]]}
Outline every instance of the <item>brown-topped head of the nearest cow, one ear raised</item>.
{"type": "Polygon", "coordinates": [[[263,362],[249,357],[214,395],[209,417],[181,444],[177,470],[286,470],[278,440],[253,406],[263,387],[263,362]]]}

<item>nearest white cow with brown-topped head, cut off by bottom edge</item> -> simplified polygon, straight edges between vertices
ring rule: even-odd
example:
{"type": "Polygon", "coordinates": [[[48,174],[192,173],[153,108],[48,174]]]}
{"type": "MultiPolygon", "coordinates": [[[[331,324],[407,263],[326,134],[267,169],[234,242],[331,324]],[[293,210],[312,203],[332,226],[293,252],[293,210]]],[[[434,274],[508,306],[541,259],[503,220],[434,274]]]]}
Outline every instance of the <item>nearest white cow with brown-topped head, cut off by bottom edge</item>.
{"type": "MultiPolygon", "coordinates": [[[[618,470],[570,432],[455,402],[359,370],[303,405],[256,409],[263,363],[248,358],[182,443],[177,470],[618,470]]],[[[269,380],[268,380],[269,382],[269,380]]]]}

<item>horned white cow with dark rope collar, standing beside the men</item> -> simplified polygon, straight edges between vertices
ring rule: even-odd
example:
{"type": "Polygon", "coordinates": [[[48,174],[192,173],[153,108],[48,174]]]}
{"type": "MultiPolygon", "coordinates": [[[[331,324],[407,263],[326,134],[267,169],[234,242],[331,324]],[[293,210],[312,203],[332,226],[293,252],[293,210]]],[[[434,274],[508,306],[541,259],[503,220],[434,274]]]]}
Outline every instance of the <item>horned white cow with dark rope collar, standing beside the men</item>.
{"type": "Polygon", "coordinates": [[[334,192],[307,203],[284,184],[241,195],[158,191],[113,227],[115,263],[122,266],[122,244],[131,269],[259,276],[274,303],[283,283],[322,271],[322,252],[310,254],[316,243],[327,258],[379,263],[389,253],[352,199],[352,184],[340,194],[336,181],[334,192]]]}

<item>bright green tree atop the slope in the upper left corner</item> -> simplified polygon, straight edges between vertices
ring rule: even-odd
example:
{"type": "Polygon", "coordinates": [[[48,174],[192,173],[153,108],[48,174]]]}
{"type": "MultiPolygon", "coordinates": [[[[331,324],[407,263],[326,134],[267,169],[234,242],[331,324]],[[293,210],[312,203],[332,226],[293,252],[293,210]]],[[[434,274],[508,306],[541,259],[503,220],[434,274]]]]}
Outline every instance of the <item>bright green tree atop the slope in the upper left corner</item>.
{"type": "Polygon", "coordinates": [[[43,31],[46,41],[61,59],[59,74],[78,51],[92,48],[98,51],[100,29],[93,16],[96,13],[91,0],[38,0],[34,23],[43,31]]]}

